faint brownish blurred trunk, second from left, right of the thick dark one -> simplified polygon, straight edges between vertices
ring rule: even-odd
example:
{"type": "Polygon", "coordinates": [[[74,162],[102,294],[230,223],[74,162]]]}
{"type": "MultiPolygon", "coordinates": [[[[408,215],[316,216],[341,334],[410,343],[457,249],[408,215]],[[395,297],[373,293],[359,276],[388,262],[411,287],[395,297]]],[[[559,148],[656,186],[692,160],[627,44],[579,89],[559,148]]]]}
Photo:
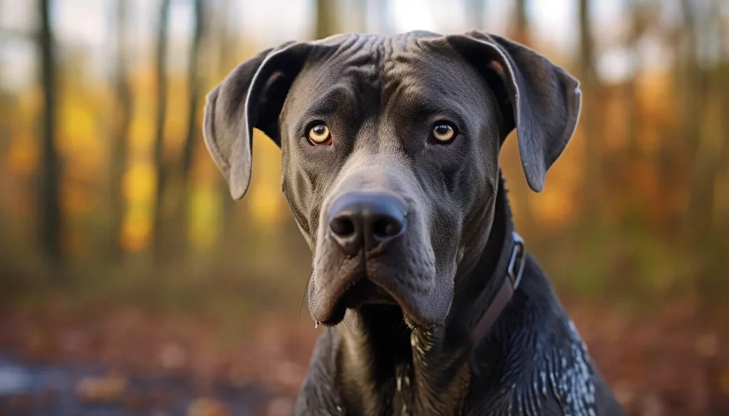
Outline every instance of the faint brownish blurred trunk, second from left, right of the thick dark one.
{"type": "Polygon", "coordinates": [[[109,200],[111,201],[111,232],[109,251],[114,258],[123,254],[122,225],[125,213],[123,189],[124,173],[128,160],[129,126],[132,118],[132,95],[128,80],[127,48],[125,42],[127,12],[126,0],[117,0],[117,69],[114,84],[117,95],[117,114],[114,123],[116,133],[112,142],[110,159],[109,200]]]}

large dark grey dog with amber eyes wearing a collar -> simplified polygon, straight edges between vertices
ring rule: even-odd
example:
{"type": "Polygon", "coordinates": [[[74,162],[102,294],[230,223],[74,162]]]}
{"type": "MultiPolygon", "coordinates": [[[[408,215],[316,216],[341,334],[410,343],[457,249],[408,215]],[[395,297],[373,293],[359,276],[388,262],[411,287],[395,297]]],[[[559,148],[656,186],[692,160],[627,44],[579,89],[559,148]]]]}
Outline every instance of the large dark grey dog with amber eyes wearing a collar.
{"type": "Polygon", "coordinates": [[[208,93],[230,194],[262,130],[313,251],[324,329],[296,415],[623,415],[515,233],[499,168],[515,129],[540,192],[580,97],[547,58],[478,31],[286,42],[208,93]]]}

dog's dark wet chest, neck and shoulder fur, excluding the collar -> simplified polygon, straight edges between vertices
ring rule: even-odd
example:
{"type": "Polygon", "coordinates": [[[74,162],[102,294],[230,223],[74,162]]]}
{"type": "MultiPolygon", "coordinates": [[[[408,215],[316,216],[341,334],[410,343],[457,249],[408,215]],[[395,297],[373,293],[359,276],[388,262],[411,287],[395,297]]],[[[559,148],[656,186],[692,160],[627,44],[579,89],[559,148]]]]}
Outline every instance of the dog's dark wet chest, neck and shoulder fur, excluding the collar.
{"type": "MultiPolygon", "coordinates": [[[[491,244],[511,221],[499,192],[491,244]]],[[[494,272],[485,260],[475,280],[494,272]]],[[[296,414],[623,415],[531,256],[510,305],[475,348],[465,340],[474,318],[426,331],[409,329],[397,307],[350,311],[346,327],[324,329],[317,342],[296,414]]]]}

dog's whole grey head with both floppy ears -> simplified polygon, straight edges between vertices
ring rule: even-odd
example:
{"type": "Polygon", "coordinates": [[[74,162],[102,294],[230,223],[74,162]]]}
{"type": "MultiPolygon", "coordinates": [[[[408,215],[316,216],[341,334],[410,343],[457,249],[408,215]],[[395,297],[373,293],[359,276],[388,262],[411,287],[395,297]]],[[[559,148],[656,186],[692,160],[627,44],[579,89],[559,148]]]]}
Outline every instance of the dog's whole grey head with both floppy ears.
{"type": "Polygon", "coordinates": [[[499,36],[348,34],[242,63],[208,94],[204,133],[235,199],[252,129],[281,147],[284,194],[313,249],[316,321],[392,303],[427,328],[485,246],[504,138],[518,130],[539,192],[579,111],[572,76],[499,36]]]}

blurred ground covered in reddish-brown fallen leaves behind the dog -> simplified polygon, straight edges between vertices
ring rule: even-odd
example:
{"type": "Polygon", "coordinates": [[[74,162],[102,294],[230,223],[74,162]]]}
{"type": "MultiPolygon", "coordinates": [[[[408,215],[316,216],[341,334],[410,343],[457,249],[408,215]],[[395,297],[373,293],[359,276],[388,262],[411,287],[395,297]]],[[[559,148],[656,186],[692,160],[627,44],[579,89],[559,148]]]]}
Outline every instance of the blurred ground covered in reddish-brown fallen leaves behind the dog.
{"type": "MultiPolygon", "coordinates": [[[[630,415],[729,415],[722,313],[565,304],[630,415]]],[[[138,307],[4,311],[0,415],[289,415],[320,330],[305,313],[260,315],[231,330],[138,307]]]]}

